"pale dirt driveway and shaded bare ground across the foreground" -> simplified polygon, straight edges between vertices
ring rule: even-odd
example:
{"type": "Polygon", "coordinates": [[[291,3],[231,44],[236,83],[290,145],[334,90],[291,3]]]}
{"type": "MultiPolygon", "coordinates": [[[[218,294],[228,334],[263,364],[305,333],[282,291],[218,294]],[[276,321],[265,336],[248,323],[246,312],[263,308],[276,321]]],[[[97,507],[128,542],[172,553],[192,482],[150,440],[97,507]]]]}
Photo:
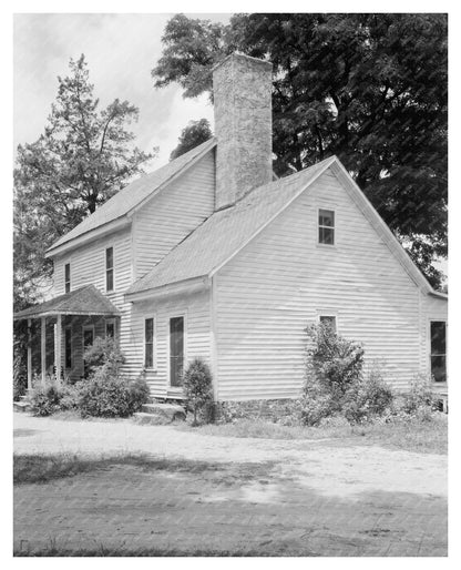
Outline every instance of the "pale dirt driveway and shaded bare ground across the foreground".
{"type": "Polygon", "coordinates": [[[20,414],[14,436],[16,454],[115,457],[17,486],[18,552],[447,556],[444,456],[20,414]]]}

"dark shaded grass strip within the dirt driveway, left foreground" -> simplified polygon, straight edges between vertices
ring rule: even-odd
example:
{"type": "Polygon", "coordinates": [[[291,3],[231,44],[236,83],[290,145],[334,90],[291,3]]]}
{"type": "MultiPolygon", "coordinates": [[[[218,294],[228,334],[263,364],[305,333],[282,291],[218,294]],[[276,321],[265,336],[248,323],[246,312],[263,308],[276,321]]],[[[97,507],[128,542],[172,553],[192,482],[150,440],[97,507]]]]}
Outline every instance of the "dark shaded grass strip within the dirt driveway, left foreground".
{"type": "Polygon", "coordinates": [[[120,455],[112,457],[79,457],[76,454],[16,455],[13,457],[14,485],[47,484],[64,477],[107,470],[114,467],[137,467],[144,472],[168,471],[217,475],[221,482],[248,480],[267,474],[273,464],[219,464],[188,459],[155,459],[151,456],[120,455]]]}

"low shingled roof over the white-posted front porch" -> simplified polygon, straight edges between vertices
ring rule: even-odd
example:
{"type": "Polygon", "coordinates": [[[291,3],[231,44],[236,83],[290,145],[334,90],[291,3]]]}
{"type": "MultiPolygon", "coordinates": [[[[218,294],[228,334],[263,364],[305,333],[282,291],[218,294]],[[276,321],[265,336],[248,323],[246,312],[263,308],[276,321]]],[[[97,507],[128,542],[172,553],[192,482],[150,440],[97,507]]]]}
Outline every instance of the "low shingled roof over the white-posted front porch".
{"type": "Polygon", "coordinates": [[[14,313],[14,319],[53,315],[117,316],[120,312],[94,285],[86,285],[14,313]]]}

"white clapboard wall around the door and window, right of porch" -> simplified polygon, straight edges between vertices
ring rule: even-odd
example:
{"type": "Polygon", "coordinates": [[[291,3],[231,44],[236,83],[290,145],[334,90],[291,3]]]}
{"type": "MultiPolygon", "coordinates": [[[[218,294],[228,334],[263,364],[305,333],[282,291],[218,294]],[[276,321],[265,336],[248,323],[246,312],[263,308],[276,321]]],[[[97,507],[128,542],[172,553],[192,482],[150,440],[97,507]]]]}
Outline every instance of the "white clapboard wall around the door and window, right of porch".
{"type": "Polygon", "coordinates": [[[144,368],[144,319],[155,317],[154,369],[145,377],[154,397],[168,396],[168,327],[170,318],[185,315],[185,357],[189,362],[201,357],[209,363],[209,292],[198,292],[164,299],[144,301],[133,304],[131,342],[135,353],[131,357],[130,373],[141,374],[144,368]]]}

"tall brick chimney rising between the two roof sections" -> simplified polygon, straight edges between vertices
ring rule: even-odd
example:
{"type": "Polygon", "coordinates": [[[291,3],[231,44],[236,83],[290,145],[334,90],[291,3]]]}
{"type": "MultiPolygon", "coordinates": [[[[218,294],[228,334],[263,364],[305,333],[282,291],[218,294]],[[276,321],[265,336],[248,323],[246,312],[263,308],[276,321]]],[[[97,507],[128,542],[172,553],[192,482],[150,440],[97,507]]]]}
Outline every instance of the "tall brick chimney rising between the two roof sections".
{"type": "Polygon", "coordinates": [[[272,63],[233,53],[213,70],[215,208],[273,177],[272,63]]]}

